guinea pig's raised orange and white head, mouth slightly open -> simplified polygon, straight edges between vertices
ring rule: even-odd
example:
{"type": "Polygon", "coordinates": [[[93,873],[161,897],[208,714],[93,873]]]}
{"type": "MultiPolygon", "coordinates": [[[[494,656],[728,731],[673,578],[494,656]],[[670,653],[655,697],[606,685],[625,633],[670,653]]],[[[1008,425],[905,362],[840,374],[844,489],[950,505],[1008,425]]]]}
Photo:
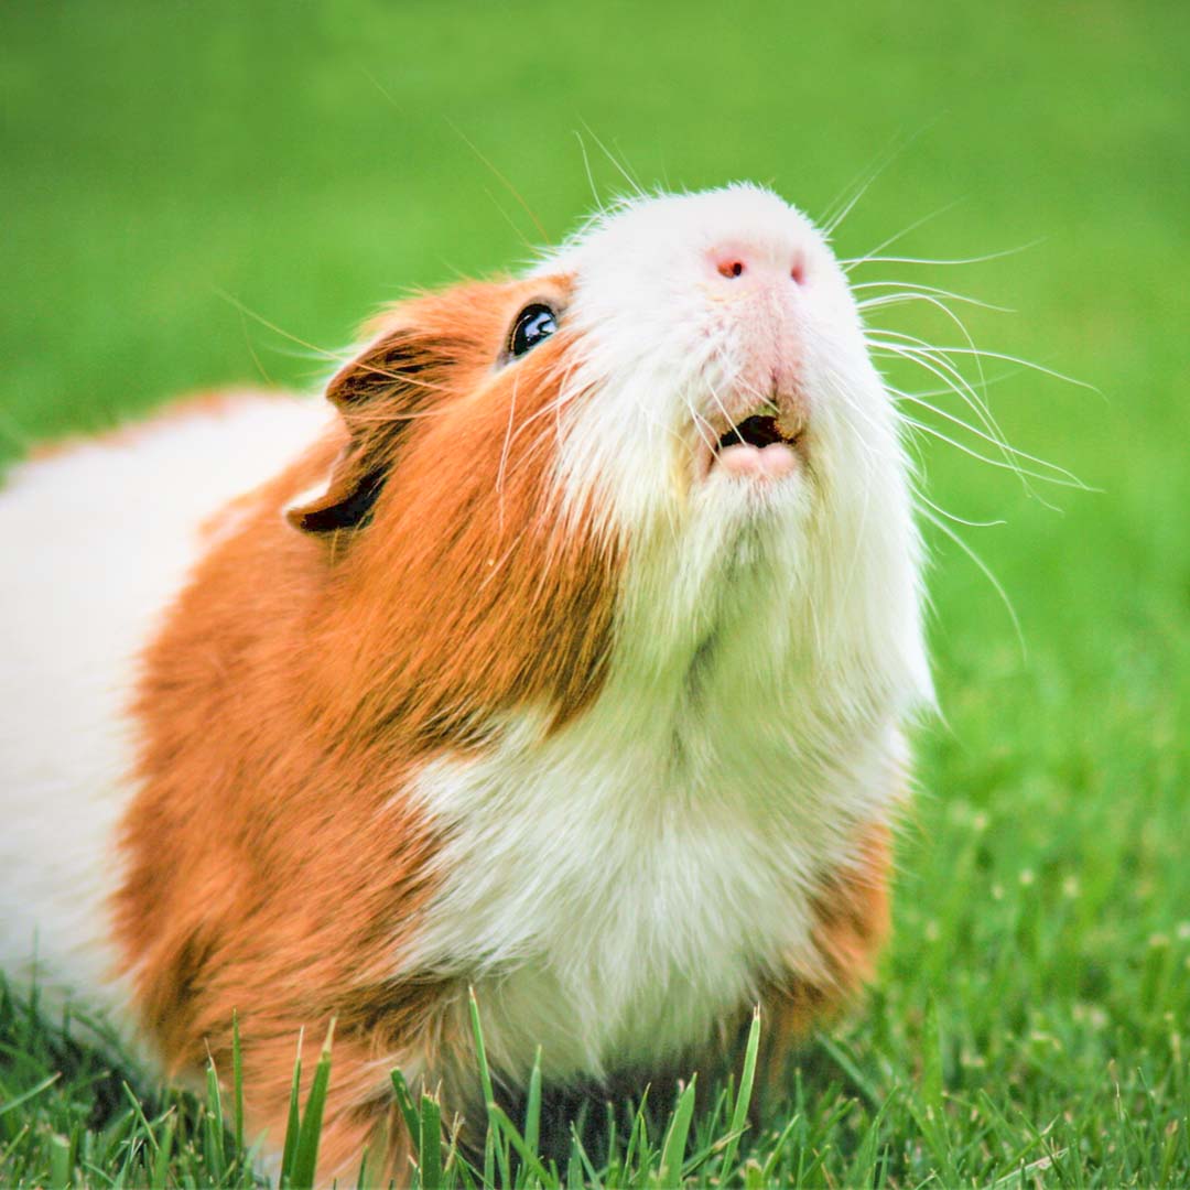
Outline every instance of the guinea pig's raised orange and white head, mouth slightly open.
{"type": "Polygon", "coordinates": [[[627,201],[525,277],[405,302],[328,395],[346,445],[288,515],[327,547],[356,714],[559,724],[710,640],[776,690],[796,658],[840,704],[853,674],[928,691],[896,411],[768,190],[627,201]]]}

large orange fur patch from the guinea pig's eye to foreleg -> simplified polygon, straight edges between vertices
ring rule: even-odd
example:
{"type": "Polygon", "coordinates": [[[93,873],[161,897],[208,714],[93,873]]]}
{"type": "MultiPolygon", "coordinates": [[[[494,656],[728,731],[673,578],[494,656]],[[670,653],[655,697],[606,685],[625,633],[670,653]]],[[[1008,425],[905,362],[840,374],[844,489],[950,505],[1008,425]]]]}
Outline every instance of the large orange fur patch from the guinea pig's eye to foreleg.
{"type": "Polygon", "coordinates": [[[496,367],[543,284],[564,295],[461,287],[386,318],[332,382],[343,426],[237,502],[144,658],[115,904],[144,1020],[171,1070],[208,1050],[227,1070],[238,1013],[251,1119],[280,1141],[298,1032],[338,1017],[325,1169],[394,1132],[390,1065],[431,1084],[469,1069],[459,989],[393,976],[438,846],[402,789],[443,749],[482,747],[493,715],[562,722],[603,677],[616,553],[556,532],[555,422],[534,418],[565,338],[496,367]],[[284,522],[328,472],[294,524],[377,466],[365,527],[284,522]]]}

